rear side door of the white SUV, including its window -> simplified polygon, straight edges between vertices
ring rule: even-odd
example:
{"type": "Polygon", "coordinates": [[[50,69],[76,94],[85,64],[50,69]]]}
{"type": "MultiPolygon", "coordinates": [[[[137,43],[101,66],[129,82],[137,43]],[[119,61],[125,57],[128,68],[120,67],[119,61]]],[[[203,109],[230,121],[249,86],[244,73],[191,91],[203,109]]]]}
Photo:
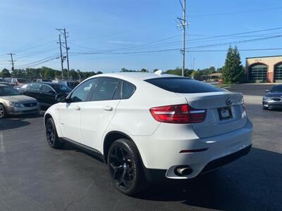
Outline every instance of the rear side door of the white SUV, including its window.
{"type": "Polygon", "coordinates": [[[90,101],[81,113],[81,133],[86,146],[102,151],[102,136],[116,112],[121,98],[120,79],[99,77],[90,101]]]}

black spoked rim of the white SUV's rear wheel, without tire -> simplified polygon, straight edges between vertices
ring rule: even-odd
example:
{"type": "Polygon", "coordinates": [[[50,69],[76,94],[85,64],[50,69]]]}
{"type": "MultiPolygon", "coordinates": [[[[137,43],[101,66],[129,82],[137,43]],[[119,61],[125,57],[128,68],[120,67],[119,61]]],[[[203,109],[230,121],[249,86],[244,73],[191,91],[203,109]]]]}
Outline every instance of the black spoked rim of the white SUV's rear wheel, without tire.
{"type": "Polygon", "coordinates": [[[114,183],[123,189],[133,184],[133,162],[123,146],[115,146],[110,152],[109,167],[114,183]]]}

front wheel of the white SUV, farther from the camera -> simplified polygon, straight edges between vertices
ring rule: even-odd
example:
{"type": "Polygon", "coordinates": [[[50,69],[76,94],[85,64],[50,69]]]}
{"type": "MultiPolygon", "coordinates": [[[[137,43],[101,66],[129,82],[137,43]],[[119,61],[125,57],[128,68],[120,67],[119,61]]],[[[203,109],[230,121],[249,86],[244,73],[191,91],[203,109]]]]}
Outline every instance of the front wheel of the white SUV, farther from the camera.
{"type": "Polygon", "coordinates": [[[56,132],[54,120],[49,118],[45,124],[47,143],[51,148],[62,148],[63,142],[60,141],[56,132]]]}

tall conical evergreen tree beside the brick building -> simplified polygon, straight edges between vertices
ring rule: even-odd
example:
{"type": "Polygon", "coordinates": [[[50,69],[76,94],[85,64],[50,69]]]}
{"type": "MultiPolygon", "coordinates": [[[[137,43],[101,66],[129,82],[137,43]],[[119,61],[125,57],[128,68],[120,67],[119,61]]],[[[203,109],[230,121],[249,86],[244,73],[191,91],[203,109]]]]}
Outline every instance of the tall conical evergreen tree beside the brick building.
{"type": "Polygon", "coordinates": [[[222,68],[223,82],[226,84],[240,83],[244,80],[244,68],[241,63],[240,53],[235,46],[229,46],[225,64],[222,68]]]}

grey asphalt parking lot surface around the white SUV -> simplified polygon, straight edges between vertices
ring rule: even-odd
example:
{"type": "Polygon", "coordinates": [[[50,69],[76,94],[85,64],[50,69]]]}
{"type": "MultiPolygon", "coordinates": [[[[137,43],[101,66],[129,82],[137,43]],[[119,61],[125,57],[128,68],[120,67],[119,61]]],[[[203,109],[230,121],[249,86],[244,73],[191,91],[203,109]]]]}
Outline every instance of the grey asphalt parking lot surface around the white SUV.
{"type": "Polygon", "coordinates": [[[42,115],[0,120],[0,210],[282,210],[282,110],[262,110],[270,85],[235,85],[254,124],[249,155],[197,179],[119,193],[106,165],[47,146],[42,115]]]}

